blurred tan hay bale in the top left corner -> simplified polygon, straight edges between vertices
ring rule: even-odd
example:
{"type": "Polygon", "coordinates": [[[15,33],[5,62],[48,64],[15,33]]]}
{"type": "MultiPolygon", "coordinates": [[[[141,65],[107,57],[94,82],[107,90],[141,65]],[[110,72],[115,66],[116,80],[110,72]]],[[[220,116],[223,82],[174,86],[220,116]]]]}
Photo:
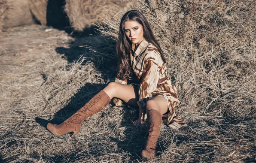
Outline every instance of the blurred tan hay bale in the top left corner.
{"type": "Polygon", "coordinates": [[[3,28],[34,23],[27,0],[5,0],[3,3],[7,6],[1,15],[3,28]]]}

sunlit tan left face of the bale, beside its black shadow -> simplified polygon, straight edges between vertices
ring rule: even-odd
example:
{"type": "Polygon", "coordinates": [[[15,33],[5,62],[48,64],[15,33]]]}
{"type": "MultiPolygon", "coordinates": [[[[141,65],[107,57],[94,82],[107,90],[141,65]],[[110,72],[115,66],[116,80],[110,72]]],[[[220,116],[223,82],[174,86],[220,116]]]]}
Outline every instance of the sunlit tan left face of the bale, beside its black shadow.
{"type": "Polygon", "coordinates": [[[34,15],[34,17],[42,25],[46,25],[46,11],[48,0],[28,0],[29,9],[34,15]]]}

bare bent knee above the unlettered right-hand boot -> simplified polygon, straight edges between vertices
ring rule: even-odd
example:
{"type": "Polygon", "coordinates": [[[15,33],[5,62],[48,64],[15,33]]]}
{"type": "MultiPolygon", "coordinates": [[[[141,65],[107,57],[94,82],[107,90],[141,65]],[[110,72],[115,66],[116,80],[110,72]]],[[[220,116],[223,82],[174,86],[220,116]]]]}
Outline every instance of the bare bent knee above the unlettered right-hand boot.
{"type": "Polygon", "coordinates": [[[167,100],[165,97],[156,96],[147,102],[146,109],[147,111],[155,109],[163,115],[168,111],[167,100]]]}

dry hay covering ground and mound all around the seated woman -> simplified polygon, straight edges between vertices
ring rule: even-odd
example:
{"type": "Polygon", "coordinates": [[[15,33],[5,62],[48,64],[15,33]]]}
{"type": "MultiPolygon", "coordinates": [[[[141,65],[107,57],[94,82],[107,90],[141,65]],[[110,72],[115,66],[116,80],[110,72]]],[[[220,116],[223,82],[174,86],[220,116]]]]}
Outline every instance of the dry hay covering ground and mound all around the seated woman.
{"type": "MultiPolygon", "coordinates": [[[[165,51],[181,101],[177,114],[189,125],[182,131],[162,125],[152,162],[255,162],[253,0],[152,0],[136,8],[165,51]]],[[[52,118],[64,121],[113,81],[122,14],[106,19],[101,35],[73,38],[40,26],[1,33],[2,161],[141,161],[145,126],[132,125],[128,108],[107,106],[75,137],[57,138],[44,128],[52,118]]]]}

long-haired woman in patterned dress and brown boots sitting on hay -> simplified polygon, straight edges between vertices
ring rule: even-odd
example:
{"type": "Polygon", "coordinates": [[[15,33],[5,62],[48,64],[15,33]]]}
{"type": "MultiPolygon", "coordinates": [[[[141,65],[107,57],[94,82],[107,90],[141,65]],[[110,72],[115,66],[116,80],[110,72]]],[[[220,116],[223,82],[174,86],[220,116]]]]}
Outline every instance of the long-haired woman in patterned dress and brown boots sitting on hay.
{"type": "Polygon", "coordinates": [[[111,99],[116,106],[124,101],[140,109],[135,125],[143,123],[143,116],[147,114],[147,139],[141,155],[152,159],[155,157],[162,115],[168,113],[166,122],[171,128],[181,129],[186,124],[175,117],[174,106],[179,103],[177,90],[166,77],[162,49],[141,12],[131,10],[122,17],[116,52],[118,74],[115,82],[107,85],[62,124],[56,126],[49,123],[47,129],[55,136],[68,132],[75,135],[80,131],[81,122],[104,109],[111,99]],[[140,81],[138,87],[126,85],[132,75],[140,81]]]}

